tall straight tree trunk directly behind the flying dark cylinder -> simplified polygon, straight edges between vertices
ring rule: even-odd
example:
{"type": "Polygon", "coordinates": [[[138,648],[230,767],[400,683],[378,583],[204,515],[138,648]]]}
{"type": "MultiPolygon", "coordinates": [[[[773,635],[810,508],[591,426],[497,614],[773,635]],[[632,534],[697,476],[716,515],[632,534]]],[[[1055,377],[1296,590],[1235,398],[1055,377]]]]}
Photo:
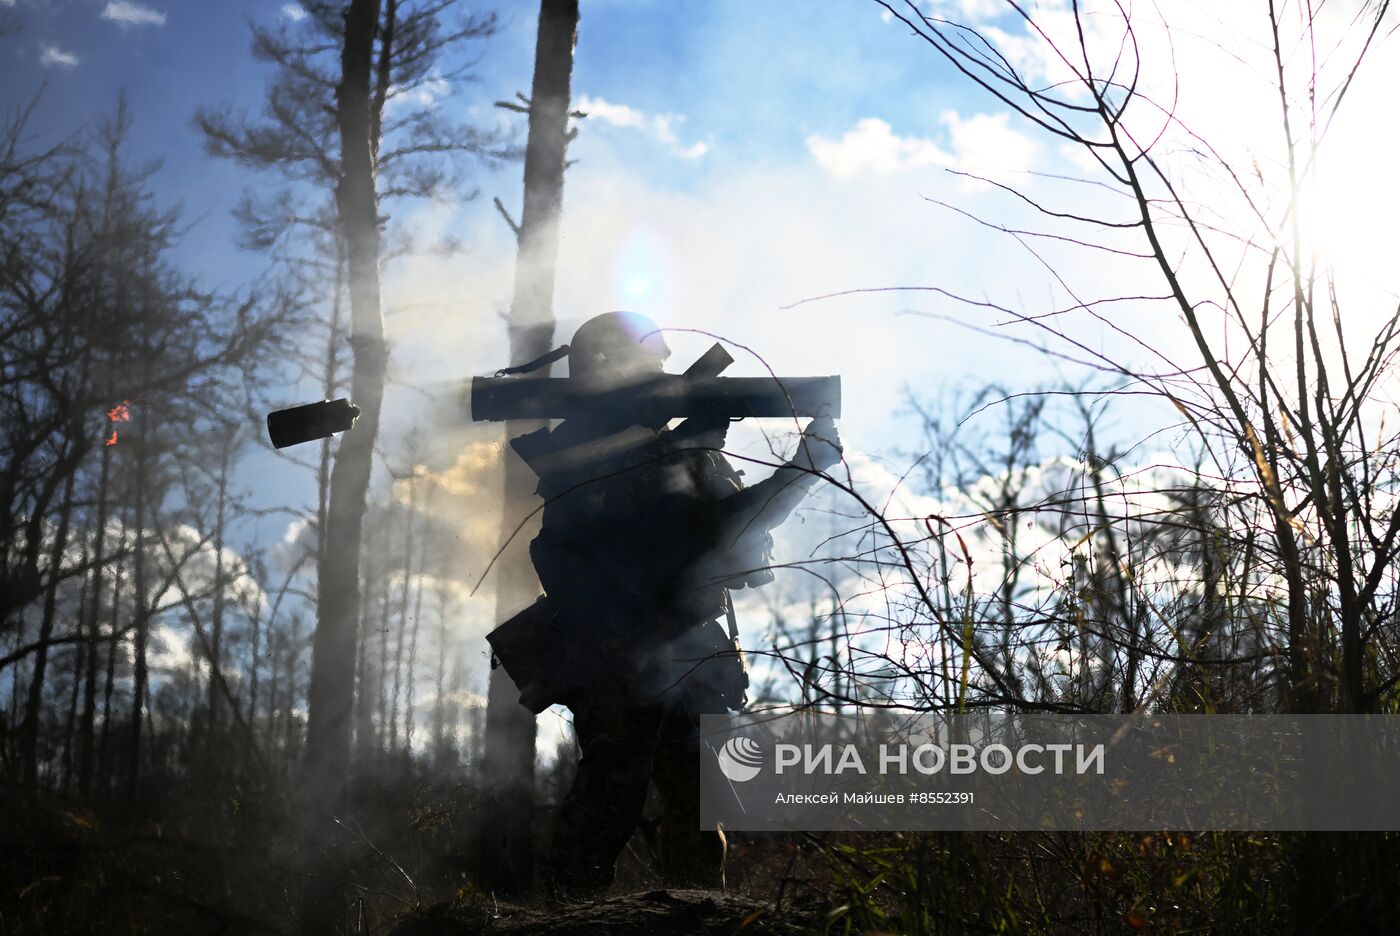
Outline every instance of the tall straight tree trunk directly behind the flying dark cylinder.
{"type": "MultiPolygon", "coordinates": [[[[379,434],[386,348],[379,305],[379,215],[370,125],[370,87],[378,0],[351,0],[344,14],[336,123],[340,133],[340,180],[336,208],[346,243],[350,285],[350,347],[354,371],[350,395],[360,407],[354,431],[340,438],[330,471],[323,553],[318,582],[316,632],[308,690],[305,790],[332,816],[344,807],[354,707],[356,625],[360,620],[360,536],[365,495],[379,434]]],[[[389,55],[382,49],[381,55],[389,55]]],[[[314,818],[312,821],[316,821],[314,818]]],[[[323,823],[325,820],[321,818],[323,823]]],[[[312,860],[325,860],[314,855],[312,860]]],[[[302,904],[302,930],[337,932],[344,922],[337,869],[311,879],[302,904]]]]}

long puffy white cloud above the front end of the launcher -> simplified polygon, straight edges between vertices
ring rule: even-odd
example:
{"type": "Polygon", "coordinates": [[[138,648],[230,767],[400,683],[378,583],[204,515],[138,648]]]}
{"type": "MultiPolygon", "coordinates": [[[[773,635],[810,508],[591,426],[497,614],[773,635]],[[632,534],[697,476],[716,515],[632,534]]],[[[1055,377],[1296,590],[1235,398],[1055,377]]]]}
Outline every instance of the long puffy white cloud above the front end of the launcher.
{"type": "Polygon", "coordinates": [[[930,166],[979,175],[1030,168],[1037,147],[1030,137],[1011,129],[1008,115],[963,118],[945,111],[938,120],[948,129],[946,146],[925,137],[902,137],[885,120],[864,118],[839,140],[813,133],[806,139],[806,148],[816,164],[837,179],[930,166]]]}

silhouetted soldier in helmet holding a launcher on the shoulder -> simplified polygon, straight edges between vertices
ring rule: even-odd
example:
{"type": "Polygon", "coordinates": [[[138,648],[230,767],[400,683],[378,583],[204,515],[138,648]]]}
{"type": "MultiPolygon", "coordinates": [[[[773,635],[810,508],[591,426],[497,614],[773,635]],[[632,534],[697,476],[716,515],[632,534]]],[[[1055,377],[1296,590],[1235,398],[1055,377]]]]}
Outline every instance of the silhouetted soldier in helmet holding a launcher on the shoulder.
{"type": "MultiPolygon", "coordinates": [[[[650,319],[610,312],[575,333],[568,376],[588,390],[626,388],[661,375],[669,354],[650,319]]],[[[648,782],[664,809],[666,883],[718,883],[722,845],[699,831],[697,723],[746,701],[729,589],[771,581],[769,529],[811,490],[813,470],[840,459],[834,423],[818,418],[791,463],[746,488],[718,452],[728,417],[675,430],[638,418],[605,409],[533,439],[546,452],[531,460],[546,499],[531,543],[550,609],[545,669],[582,751],[550,858],[564,894],[612,883],[648,782]]]]}

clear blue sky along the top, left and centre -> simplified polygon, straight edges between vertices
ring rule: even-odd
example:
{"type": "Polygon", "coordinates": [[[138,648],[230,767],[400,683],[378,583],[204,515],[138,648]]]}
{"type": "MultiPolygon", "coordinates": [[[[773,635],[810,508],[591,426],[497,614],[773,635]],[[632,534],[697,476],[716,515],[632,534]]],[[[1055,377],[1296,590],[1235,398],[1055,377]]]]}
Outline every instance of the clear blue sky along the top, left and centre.
{"type": "MultiPolygon", "coordinates": [[[[218,257],[209,263],[218,269],[206,270],[214,283],[224,273],[234,281],[241,271],[227,270],[227,213],[251,179],[203,155],[190,118],[200,105],[256,106],[267,70],[248,53],[248,22],[274,24],[288,6],[0,0],[22,24],[0,39],[4,99],[25,101],[42,85],[36,127],[56,136],[109,113],[125,91],[137,120],[132,153],[164,162],[162,194],[199,221],[186,249],[196,260],[218,257]]],[[[503,28],[480,48],[479,83],[454,90],[459,106],[489,109],[529,90],[536,4],[496,10],[503,28]]],[[[575,97],[678,115],[680,139],[707,144],[700,161],[671,158],[655,141],[624,154],[629,171],[679,189],[735,166],[785,165],[804,154],[808,134],[840,134],[872,112],[903,112],[917,132],[965,94],[935,57],[896,41],[869,0],[585,0],[580,35],[575,97]]],[[[596,141],[585,134],[574,155],[599,158],[596,141]]],[[[517,168],[487,173],[486,187],[508,199],[517,176],[517,168]]]]}

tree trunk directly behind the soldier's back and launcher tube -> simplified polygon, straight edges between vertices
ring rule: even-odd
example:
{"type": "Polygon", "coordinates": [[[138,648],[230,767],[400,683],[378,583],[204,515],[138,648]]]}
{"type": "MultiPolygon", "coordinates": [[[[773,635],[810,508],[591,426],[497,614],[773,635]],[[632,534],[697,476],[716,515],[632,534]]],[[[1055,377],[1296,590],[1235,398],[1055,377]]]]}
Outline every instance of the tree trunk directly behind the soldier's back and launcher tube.
{"type": "MultiPolygon", "coordinates": [[[[550,348],[554,337],[554,266],[559,259],[577,34],[578,0],[540,1],[525,144],[525,200],[508,323],[512,365],[539,357],[550,348]]],[[[514,438],[535,428],[533,423],[507,423],[505,437],[514,438]]],[[[518,518],[531,512],[533,501],[535,477],[507,446],[503,536],[510,534],[518,518]]],[[[525,547],[529,530],[521,533],[500,557],[497,621],[519,611],[539,593],[539,581],[525,547]]],[[[535,716],[519,704],[519,693],[503,669],[490,674],[483,767],[494,806],[484,810],[477,867],[487,887],[524,890],[533,877],[535,716]]]]}

